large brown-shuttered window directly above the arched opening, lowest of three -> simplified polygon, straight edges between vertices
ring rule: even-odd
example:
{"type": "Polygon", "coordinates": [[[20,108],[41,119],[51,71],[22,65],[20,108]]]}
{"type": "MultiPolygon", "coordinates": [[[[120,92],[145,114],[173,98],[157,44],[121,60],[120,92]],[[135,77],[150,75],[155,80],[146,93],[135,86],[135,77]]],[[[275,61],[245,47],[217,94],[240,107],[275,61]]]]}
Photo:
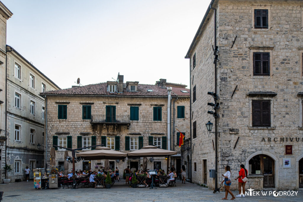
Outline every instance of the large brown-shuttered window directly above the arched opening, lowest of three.
{"type": "Polygon", "coordinates": [[[252,100],[252,126],[270,126],[270,100],[252,100]]]}

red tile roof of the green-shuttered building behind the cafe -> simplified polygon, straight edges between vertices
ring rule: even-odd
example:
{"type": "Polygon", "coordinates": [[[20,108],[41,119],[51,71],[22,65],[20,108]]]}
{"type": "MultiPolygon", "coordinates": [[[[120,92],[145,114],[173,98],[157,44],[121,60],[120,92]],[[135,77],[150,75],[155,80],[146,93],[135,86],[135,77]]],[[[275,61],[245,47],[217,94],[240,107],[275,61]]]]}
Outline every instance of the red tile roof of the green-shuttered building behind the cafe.
{"type": "MultiPolygon", "coordinates": [[[[189,89],[186,88],[172,88],[171,96],[188,96],[189,97],[189,89]],[[181,90],[186,90],[188,93],[182,93],[181,90]]],[[[40,93],[40,95],[108,95],[108,96],[167,96],[167,89],[163,89],[156,85],[149,84],[138,84],[138,91],[129,92],[127,90],[123,90],[123,93],[109,93],[107,91],[107,83],[97,83],[90,84],[87,86],[80,86],[68,89],[61,90],[53,90],[40,93]],[[147,90],[151,89],[152,92],[148,92],[147,90]]]]}

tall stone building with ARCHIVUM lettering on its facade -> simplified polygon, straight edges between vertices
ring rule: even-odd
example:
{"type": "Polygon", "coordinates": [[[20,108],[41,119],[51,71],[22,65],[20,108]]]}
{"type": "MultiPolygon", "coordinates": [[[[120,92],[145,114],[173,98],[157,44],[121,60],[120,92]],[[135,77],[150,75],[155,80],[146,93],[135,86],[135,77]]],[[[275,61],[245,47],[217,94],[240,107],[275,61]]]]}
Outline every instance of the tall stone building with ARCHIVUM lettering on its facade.
{"type": "MultiPolygon", "coordinates": [[[[185,56],[190,59],[195,147],[188,157],[194,183],[215,187],[209,177],[215,169],[215,134],[205,127],[211,121],[220,132],[218,184],[225,165],[234,178],[244,164],[247,188],[303,186],[302,54],[302,1],[211,1],[185,56]],[[208,114],[207,103],[214,103],[208,92],[219,96],[216,120],[216,114],[208,114]]],[[[232,190],[238,186],[234,182],[232,190]]]]}

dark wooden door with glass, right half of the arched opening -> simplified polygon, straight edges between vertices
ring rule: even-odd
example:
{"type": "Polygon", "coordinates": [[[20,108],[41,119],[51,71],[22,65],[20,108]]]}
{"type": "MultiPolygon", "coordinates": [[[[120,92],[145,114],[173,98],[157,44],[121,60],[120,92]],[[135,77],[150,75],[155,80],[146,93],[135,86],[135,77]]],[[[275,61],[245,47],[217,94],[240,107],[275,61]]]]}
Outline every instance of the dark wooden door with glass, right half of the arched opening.
{"type": "Polygon", "coordinates": [[[266,155],[261,155],[263,187],[275,187],[275,161],[266,155]]]}

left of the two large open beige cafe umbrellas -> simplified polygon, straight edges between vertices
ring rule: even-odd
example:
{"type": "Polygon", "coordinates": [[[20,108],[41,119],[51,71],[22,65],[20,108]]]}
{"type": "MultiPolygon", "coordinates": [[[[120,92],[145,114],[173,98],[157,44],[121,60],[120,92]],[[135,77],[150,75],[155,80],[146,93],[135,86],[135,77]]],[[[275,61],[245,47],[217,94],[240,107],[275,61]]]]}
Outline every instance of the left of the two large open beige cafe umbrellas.
{"type": "MultiPolygon", "coordinates": [[[[111,150],[106,146],[97,147],[95,150],[76,153],[77,157],[82,157],[85,160],[101,160],[101,159],[125,159],[126,153],[111,150]]],[[[109,169],[109,168],[108,168],[109,169]]],[[[108,170],[107,169],[107,170],[108,170]]]]}

